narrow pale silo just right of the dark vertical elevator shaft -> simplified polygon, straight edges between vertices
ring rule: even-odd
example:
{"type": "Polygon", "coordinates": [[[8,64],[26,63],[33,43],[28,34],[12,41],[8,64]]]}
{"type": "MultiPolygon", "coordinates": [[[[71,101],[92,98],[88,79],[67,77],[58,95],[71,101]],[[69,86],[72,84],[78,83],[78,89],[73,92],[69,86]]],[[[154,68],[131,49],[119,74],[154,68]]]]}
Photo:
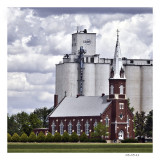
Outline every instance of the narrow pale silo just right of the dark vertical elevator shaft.
{"type": "Polygon", "coordinates": [[[84,96],[95,96],[95,64],[85,63],[83,73],[83,94],[84,96]]]}

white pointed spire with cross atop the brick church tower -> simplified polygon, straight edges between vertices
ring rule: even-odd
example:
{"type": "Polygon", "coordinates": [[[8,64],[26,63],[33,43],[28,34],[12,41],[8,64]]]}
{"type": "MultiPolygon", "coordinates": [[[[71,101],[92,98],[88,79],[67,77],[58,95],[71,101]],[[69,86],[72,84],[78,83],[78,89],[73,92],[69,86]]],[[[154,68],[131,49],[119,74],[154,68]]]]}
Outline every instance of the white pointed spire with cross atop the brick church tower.
{"type": "Polygon", "coordinates": [[[115,53],[114,53],[112,70],[114,74],[110,78],[114,78],[114,79],[125,78],[124,73],[121,74],[121,72],[124,72],[124,69],[122,65],[122,56],[121,56],[121,49],[120,49],[120,43],[119,43],[119,30],[118,29],[117,29],[117,42],[116,42],[116,48],[115,48],[115,53]]]}

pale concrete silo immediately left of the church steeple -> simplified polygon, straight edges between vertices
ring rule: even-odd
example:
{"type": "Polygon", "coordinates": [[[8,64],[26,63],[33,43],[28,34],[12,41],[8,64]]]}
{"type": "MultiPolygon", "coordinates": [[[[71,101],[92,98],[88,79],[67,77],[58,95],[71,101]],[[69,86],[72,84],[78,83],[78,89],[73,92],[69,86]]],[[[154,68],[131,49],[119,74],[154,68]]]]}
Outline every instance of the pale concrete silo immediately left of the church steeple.
{"type": "Polygon", "coordinates": [[[110,64],[97,63],[95,68],[95,95],[109,95],[110,64]]]}

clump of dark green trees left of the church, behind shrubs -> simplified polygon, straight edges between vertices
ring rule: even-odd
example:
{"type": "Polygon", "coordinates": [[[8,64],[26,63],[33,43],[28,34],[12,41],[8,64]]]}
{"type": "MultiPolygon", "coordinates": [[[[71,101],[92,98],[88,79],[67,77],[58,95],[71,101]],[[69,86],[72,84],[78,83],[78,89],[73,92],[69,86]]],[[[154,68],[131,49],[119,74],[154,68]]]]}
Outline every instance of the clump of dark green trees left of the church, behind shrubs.
{"type": "Polygon", "coordinates": [[[36,108],[30,114],[21,112],[13,115],[7,114],[8,133],[12,136],[14,133],[27,136],[31,134],[34,128],[48,128],[47,116],[51,113],[53,107],[36,108]]]}

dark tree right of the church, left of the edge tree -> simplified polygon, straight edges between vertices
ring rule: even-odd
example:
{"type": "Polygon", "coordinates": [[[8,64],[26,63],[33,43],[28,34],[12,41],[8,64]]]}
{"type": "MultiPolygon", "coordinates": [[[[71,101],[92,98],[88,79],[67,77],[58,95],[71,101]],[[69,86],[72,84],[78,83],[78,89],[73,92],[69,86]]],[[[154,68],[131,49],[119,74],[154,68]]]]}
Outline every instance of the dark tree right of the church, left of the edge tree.
{"type": "Polygon", "coordinates": [[[134,117],[135,136],[139,137],[140,141],[145,137],[145,112],[136,112],[134,117]]]}

